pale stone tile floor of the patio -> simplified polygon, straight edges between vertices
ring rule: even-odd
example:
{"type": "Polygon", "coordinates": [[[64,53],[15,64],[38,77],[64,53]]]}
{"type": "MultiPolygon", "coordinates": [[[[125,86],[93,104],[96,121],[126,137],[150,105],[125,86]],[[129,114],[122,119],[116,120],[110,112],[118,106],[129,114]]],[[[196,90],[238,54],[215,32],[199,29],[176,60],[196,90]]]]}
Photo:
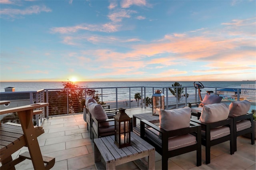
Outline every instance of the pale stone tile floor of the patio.
{"type": "MultiPolygon", "coordinates": [[[[149,113],[151,109],[126,109],[126,113],[149,113]]],[[[83,115],[67,115],[51,117],[42,124],[44,134],[38,137],[42,154],[55,157],[56,162],[52,170],[94,170],[94,149],[90,133],[87,131],[83,115]]],[[[205,147],[202,146],[202,166],[196,166],[196,151],[169,158],[168,168],[175,170],[255,170],[255,144],[242,136],[237,140],[237,152],[230,155],[229,142],[211,147],[211,163],[205,164],[205,147]]],[[[27,151],[24,147],[12,156],[16,158],[19,153],[27,151]]],[[[161,156],[156,152],[156,169],[162,169],[161,156]]],[[[147,159],[143,160],[147,163],[147,159]]],[[[15,166],[17,170],[33,169],[32,162],[25,160],[15,166]]],[[[134,162],[116,166],[116,169],[137,170],[134,162]]]]}

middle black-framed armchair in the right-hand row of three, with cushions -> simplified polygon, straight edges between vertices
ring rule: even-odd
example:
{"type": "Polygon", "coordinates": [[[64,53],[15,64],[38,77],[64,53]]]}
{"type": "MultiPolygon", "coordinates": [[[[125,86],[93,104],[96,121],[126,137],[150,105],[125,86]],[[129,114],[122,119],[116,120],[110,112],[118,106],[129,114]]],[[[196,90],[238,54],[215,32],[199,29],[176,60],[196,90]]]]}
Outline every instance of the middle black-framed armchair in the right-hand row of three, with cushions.
{"type": "Polygon", "coordinates": [[[206,164],[210,163],[210,148],[230,141],[230,154],[234,154],[233,120],[228,118],[229,107],[225,103],[205,105],[199,120],[191,119],[202,127],[202,145],[205,146],[206,164]]]}

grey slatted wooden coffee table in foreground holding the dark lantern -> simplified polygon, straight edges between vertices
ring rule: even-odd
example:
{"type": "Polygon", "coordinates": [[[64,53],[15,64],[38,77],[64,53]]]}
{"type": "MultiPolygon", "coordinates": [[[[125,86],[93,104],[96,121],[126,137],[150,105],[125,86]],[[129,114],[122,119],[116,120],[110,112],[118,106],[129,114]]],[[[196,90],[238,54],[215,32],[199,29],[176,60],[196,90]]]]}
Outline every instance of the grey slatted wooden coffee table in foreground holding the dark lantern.
{"type": "Polygon", "coordinates": [[[105,169],[104,164],[101,162],[101,156],[106,162],[107,170],[115,170],[117,165],[131,161],[134,161],[137,166],[140,166],[143,163],[138,159],[146,156],[148,156],[148,169],[155,169],[154,146],[150,145],[133,132],[131,132],[132,146],[118,148],[116,144],[114,144],[114,138],[114,136],[106,136],[94,139],[94,159],[97,169],[105,169]]]}

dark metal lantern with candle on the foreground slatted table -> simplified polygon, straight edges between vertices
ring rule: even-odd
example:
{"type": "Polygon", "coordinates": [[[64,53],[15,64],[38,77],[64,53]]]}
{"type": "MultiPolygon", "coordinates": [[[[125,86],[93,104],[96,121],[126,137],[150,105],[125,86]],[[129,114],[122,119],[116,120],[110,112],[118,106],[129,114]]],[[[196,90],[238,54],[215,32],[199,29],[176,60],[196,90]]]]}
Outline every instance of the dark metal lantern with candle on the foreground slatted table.
{"type": "Polygon", "coordinates": [[[131,146],[131,130],[130,118],[125,109],[120,108],[118,114],[114,116],[115,119],[115,144],[118,148],[131,146]]]}

